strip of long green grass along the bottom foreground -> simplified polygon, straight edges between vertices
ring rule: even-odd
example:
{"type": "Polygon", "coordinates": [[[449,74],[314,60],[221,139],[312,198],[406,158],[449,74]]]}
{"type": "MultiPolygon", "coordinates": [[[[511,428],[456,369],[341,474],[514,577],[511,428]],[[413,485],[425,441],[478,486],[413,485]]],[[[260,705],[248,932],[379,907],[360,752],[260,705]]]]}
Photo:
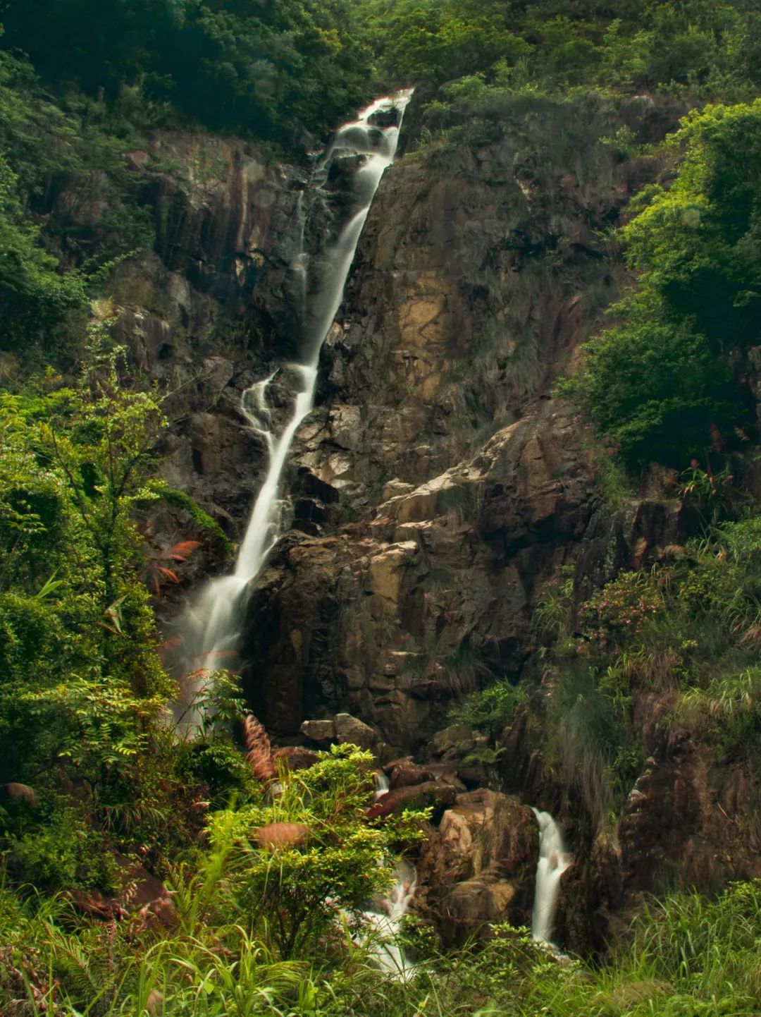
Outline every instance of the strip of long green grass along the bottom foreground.
{"type": "Polygon", "coordinates": [[[404,981],[374,967],[338,929],[332,956],[282,961],[245,925],[200,920],[201,908],[186,928],[219,885],[210,874],[194,887],[178,884],[181,928],[156,939],[135,937],[139,929],[125,922],[75,924],[61,900],[21,902],[0,890],[0,1003],[28,1001],[26,1012],[60,1017],[751,1017],[761,998],[758,882],[713,901],[677,893],[654,902],[611,963],[588,970],[558,962],[508,925],[448,954],[413,936],[419,960],[404,981]]]}

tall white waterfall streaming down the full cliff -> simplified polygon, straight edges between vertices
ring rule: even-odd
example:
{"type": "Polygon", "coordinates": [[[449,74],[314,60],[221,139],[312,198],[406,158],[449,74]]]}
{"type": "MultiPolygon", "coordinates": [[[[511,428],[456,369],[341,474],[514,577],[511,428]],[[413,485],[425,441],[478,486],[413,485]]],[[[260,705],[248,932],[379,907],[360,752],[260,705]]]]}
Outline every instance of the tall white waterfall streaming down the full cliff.
{"type": "Polygon", "coordinates": [[[291,417],[279,433],[272,425],[267,404],[267,390],[274,375],[257,381],[243,394],[241,412],[265,442],[267,472],[254,501],[235,571],[211,580],[189,604],[181,621],[184,670],[195,674],[186,679],[187,686],[183,691],[186,710],[182,722],[185,726],[194,726],[194,711],[187,707],[203,682],[203,671],[224,666],[227,657],[237,650],[246,591],[261,573],[280,536],[282,473],[289,451],[299,426],[314,406],[320,350],[340,306],[375,192],[396,154],[403,112],[411,94],[413,91],[407,89],[376,100],[357,120],[344,124],[315,170],[312,183],[319,193],[328,181],[336,158],[358,157],[361,165],[352,176],[353,204],[357,211],[325,250],[319,265],[320,279],[311,293],[307,286],[307,255],[302,250],[295,259],[293,267],[302,284],[304,297],[303,347],[300,363],[289,365],[297,388],[291,417]],[[397,111],[396,116],[389,117],[393,110],[397,111]],[[374,121],[378,121],[378,125],[374,121]],[[388,126],[382,126],[384,123],[388,126]]]}

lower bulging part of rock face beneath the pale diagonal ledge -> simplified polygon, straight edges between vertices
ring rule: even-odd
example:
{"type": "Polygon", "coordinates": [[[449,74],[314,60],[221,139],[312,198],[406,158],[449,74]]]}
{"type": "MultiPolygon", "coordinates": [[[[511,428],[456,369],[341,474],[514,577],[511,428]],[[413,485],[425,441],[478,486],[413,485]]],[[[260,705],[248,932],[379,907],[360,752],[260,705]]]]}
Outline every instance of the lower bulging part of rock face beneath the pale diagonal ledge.
{"type": "Polygon", "coordinates": [[[481,676],[517,670],[532,605],[593,508],[584,440],[567,406],[538,402],[367,527],[283,547],[251,601],[245,650],[267,727],[295,733],[320,702],[345,704],[410,749],[481,676]]]}

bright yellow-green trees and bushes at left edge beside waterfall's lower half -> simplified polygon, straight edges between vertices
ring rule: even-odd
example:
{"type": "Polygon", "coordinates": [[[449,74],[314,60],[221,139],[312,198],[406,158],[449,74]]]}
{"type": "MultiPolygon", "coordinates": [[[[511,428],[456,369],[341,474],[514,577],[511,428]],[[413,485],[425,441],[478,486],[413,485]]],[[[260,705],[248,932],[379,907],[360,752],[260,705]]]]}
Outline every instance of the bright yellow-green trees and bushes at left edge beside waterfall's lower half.
{"type": "Polygon", "coordinates": [[[38,886],[103,883],[107,843],[157,851],[186,822],[161,816],[192,770],[162,720],[174,684],[133,522],[164,419],[105,342],[93,323],[70,387],[0,398],[0,783],[38,797],[5,810],[0,851],[38,886]]]}

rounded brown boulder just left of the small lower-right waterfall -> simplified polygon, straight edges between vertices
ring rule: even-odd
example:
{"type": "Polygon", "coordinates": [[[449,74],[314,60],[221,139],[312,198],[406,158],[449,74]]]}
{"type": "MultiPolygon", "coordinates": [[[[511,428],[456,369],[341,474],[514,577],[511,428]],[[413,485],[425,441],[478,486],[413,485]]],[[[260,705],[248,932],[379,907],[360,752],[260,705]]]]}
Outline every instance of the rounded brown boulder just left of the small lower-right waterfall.
{"type": "Polygon", "coordinates": [[[528,924],[537,854],[530,809],[486,789],[459,794],[423,849],[416,908],[448,943],[489,922],[528,924]]]}

